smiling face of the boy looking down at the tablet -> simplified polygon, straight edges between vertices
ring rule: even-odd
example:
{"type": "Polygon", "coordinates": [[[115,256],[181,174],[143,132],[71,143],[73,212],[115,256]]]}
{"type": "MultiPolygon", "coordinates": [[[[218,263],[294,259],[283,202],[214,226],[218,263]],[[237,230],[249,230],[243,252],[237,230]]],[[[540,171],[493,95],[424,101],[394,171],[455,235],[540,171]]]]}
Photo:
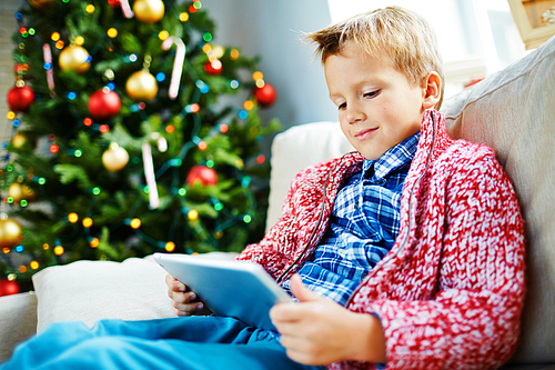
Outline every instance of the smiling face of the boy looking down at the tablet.
{"type": "Polygon", "coordinates": [[[365,158],[377,160],[420,131],[425,89],[411,83],[387,57],[347,47],[327,57],[324,72],[341,129],[365,158]]]}

